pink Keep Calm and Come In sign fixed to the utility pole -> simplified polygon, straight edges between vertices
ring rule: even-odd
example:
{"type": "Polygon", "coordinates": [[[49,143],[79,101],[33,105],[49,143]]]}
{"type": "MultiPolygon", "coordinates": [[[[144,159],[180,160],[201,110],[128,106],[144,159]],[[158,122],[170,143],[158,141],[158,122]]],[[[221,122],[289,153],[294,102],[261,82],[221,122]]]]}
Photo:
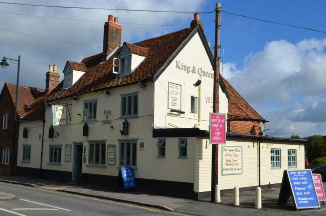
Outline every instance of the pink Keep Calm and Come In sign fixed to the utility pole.
{"type": "Polygon", "coordinates": [[[210,113],[210,144],[225,144],[225,114],[210,113]]]}

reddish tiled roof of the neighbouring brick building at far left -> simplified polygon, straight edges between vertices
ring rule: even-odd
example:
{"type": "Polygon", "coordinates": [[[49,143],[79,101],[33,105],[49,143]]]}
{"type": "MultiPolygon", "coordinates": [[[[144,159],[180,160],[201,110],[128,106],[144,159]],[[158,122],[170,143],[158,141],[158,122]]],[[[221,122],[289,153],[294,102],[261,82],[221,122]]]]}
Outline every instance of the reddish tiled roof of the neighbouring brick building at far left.
{"type": "MultiPolygon", "coordinates": [[[[16,103],[16,85],[5,83],[9,89],[9,93],[13,99],[14,105],[16,103]]],[[[17,113],[19,116],[24,116],[29,110],[28,106],[31,105],[36,98],[42,95],[43,89],[37,89],[33,87],[19,86],[18,87],[18,103],[17,113]]]]}

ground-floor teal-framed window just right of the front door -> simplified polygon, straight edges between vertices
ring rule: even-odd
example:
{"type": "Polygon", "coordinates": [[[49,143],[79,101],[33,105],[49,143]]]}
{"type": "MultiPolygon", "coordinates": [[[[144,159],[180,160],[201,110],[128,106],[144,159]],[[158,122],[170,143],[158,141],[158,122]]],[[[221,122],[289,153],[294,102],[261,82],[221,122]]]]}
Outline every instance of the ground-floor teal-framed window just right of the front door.
{"type": "Polygon", "coordinates": [[[88,141],[88,166],[102,166],[105,165],[105,141],[88,141]]]}

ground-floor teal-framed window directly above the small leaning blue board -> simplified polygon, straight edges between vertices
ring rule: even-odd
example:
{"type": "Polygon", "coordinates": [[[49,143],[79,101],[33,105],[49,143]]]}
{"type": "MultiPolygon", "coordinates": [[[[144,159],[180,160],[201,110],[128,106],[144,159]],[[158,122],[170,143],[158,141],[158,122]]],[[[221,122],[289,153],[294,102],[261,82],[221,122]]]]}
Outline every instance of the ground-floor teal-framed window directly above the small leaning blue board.
{"type": "Polygon", "coordinates": [[[137,168],[137,140],[119,140],[119,166],[137,168]]]}

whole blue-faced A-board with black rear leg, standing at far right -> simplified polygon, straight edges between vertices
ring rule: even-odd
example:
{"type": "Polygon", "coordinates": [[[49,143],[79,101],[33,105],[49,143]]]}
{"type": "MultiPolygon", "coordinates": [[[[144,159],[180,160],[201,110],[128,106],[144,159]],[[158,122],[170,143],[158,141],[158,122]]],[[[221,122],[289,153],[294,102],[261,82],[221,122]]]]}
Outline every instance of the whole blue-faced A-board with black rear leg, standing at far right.
{"type": "Polygon", "coordinates": [[[296,209],[320,207],[311,169],[284,170],[277,204],[287,203],[290,195],[296,209]]]}

